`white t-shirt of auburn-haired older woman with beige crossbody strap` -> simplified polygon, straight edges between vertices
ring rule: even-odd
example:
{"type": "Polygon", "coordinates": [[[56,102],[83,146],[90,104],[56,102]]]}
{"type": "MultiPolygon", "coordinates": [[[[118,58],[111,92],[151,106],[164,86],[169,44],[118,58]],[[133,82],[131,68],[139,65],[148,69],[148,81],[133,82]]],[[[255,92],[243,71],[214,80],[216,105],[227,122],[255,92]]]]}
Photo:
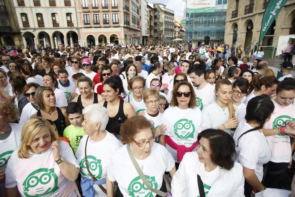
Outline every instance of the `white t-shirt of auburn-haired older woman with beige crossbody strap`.
{"type": "MultiPolygon", "coordinates": [[[[143,165],[143,173],[148,182],[155,189],[160,189],[163,182],[163,174],[172,170],[175,162],[167,149],[153,143],[150,155],[144,160],[136,159],[138,165],[143,165]]],[[[148,196],[155,197],[143,183],[138,175],[127,152],[127,145],[122,146],[112,157],[107,177],[110,181],[117,181],[119,189],[124,197],[148,196]]]]}

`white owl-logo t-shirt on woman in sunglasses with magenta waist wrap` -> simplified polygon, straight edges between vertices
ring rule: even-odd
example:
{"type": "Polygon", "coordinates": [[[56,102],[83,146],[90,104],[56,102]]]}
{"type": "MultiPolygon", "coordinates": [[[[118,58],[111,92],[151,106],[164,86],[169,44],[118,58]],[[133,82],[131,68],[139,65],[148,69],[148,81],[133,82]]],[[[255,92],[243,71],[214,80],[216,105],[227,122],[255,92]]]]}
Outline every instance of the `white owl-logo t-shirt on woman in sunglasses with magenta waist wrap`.
{"type": "MultiPolygon", "coordinates": [[[[164,135],[170,136],[178,145],[190,147],[197,141],[198,133],[202,131],[201,120],[199,108],[182,110],[178,107],[169,107],[162,117],[162,123],[167,128],[164,135]]],[[[177,161],[177,150],[171,148],[168,144],[166,144],[166,148],[177,161]]]]}

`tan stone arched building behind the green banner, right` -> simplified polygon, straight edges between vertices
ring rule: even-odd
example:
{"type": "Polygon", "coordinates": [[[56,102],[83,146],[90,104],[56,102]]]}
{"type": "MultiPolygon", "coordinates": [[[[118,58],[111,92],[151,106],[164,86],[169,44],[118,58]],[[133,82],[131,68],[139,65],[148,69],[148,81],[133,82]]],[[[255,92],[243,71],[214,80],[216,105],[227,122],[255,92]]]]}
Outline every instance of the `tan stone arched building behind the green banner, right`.
{"type": "MultiPolygon", "coordinates": [[[[224,42],[242,45],[245,53],[258,42],[262,18],[269,0],[228,0],[224,42]]],[[[289,0],[272,23],[260,43],[261,46],[277,46],[280,35],[295,34],[295,0],[289,0]],[[276,40],[276,43],[274,43],[276,40]]]]}

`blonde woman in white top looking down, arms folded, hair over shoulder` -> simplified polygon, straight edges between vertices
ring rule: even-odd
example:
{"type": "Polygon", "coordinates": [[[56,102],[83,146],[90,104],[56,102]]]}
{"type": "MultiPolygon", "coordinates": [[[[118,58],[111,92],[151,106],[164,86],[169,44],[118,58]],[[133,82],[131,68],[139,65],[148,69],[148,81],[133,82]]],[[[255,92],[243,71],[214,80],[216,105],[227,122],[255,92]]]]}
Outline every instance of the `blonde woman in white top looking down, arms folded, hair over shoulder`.
{"type": "Polygon", "coordinates": [[[222,77],[215,85],[217,100],[202,110],[202,130],[207,128],[219,129],[231,135],[238,126],[236,118],[237,106],[232,103],[232,83],[222,77]]]}

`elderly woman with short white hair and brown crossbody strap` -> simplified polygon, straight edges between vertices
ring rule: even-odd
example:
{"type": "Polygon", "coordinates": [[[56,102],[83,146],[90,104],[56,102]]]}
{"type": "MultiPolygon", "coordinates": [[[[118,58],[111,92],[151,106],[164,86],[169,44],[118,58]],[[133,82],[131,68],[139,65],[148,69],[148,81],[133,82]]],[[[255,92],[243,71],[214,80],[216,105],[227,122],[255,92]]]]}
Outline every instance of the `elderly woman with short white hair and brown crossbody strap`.
{"type": "Polygon", "coordinates": [[[99,104],[88,105],[83,109],[83,115],[85,136],[76,152],[83,196],[106,196],[107,168],[112,155],[123,144],[105,130],[109,121],[109,113],[105,107],[99,104]]]}

